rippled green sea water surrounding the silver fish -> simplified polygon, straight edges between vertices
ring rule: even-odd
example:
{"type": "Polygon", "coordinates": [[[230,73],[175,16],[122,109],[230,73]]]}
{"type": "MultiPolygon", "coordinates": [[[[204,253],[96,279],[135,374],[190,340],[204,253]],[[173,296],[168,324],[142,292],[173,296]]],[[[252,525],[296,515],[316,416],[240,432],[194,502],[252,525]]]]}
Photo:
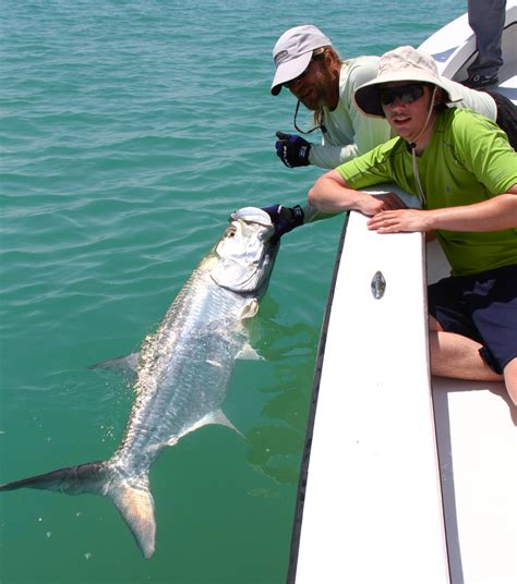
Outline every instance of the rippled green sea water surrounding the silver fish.
{"type": "MultiPolygon", "coordinates": [[[[109,458],[133,396],[87,366],[153,331],[231,210],[299,203],[321,173],[275,155],[294,106],[269,95],[277,37],[313,22],[344,57],[380,54],[419,45],[464,10],[1,2],[0,483],[109,458]]],[[[2,583],[285,582],[341,224],[284,241],[252,325],[265,360],[236,365],[225,405],[247,439],[205,427],[153,466],[155,556],[142,559],[105,498],[20,490],[0,497],[2,583]]]]}

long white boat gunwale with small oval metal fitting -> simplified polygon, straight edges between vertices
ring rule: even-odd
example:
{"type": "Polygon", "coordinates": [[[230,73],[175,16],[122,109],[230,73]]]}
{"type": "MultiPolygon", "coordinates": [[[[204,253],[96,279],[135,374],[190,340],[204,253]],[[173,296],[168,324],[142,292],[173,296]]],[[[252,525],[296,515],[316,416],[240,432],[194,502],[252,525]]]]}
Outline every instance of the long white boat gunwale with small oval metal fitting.
{"type": "Polygon", "coordinates": [[[321,348],[296,582],[443,584],[422,235],[378,235],[365,221],[350,215],[321,348]]]}

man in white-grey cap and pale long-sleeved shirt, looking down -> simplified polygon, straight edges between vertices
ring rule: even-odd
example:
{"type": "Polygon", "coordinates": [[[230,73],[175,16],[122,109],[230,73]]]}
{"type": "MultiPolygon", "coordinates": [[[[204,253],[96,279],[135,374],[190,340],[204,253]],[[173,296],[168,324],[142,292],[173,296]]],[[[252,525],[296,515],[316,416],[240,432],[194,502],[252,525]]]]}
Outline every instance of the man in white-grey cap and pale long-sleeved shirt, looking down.
{"type": "Polygon", "coordinates": [[[330,39],[316,26],[305,24],[280,36],[273,59],[272,94],[277,96],[285,86],[298,99],[294,126],[300,133],[305,133],[297,124],[300,102],[314,111],[313,130],[322,130],[322,144],[277,133],[277,154],[287,167],[335,168],[389,138],[386,121],[366,118],[352,100],[353,92],[375,77],[378,57],[341,61],[330,39]]]}

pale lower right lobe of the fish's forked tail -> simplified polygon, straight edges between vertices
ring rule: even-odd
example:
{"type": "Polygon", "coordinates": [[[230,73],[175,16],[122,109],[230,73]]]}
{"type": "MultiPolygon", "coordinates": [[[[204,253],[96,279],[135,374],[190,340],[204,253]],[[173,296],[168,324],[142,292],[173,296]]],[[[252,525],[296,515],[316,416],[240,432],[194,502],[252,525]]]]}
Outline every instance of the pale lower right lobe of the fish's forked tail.
{"type": "Polygon", "coordinates": [[[155,551],[156,521],[153,495],[147,488],[117,484],[109,494],[144,555],[155,551]]]}

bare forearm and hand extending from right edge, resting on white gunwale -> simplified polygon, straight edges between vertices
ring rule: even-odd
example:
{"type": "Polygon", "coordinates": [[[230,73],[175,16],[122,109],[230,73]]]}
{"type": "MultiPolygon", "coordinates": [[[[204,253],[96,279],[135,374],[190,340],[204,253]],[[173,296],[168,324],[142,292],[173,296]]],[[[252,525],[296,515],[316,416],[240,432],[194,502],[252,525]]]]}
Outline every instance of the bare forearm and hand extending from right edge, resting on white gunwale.
{"type": "Polygon", "coordinates": [[[517,228],[517,184],[506,193],[459,207],[385,210],[369,220],[378,233],[399,231],[502,231],[517,228]]]}

